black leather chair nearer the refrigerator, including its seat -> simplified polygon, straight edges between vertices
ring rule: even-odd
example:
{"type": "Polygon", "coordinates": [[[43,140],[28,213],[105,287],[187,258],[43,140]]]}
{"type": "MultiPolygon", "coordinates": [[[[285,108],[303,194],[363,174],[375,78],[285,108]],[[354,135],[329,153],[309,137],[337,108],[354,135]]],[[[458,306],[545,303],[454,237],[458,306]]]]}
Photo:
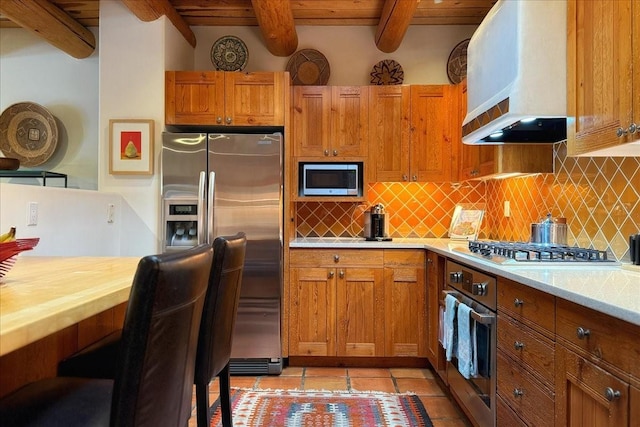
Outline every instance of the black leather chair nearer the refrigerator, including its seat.
{"type": "MultiPolygon", "coordinates": [[[[209,383],[216,376],[220,378],[222,424],[231,426],[229,360],[245,251],[244,233],[217,237],[213,242],[213,265],[202,314],[193,381],[196,386],[198,427],[209,427],[209,383]]],[[[114,365],[111,361],[115,360],[119,345],[120,333],[114,332],[62,361],[58,366],[58,375],[113,378],[114,365]]]]}

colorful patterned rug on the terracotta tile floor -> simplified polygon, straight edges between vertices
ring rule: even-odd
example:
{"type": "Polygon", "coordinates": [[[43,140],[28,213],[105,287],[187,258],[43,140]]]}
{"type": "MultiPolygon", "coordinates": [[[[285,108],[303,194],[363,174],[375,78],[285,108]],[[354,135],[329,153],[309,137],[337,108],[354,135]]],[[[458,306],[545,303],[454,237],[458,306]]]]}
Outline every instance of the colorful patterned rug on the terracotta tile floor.
{"type": "MultiPolygon", "coordinates": [[[[432,427],[413,394],[231,390],[234,427],[432,427]]],[[[219,402],[211,427],[222,426],[219,402]]]]}

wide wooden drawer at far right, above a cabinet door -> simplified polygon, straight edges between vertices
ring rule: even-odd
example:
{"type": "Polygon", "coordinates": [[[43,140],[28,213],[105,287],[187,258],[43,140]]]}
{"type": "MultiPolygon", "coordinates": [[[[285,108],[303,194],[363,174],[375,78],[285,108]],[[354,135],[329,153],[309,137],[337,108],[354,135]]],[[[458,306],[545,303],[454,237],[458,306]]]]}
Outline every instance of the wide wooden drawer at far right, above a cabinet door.
{"type": "Polygon", "coordinates": [[[637,376],[640,328],[558,298],[556,330],[573,350],[637,376]]]}

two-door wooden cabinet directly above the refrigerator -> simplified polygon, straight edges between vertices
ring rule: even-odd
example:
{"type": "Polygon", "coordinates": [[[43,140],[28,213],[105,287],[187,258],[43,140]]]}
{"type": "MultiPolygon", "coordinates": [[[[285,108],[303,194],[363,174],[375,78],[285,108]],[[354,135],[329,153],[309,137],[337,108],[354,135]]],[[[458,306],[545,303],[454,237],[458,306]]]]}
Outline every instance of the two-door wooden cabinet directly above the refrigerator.
{"type": "Polygon", "coordinates": [[[288,73],[167,71],[165,124],[284,126],[288,73]]]}

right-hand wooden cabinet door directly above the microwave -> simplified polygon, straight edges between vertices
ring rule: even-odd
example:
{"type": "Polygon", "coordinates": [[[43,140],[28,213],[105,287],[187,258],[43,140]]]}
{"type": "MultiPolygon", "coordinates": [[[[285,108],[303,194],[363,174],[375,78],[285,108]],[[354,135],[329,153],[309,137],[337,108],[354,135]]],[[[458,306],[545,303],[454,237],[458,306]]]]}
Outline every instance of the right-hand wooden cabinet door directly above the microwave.
{"type": "Polygon", "coordinates": [[[369,144],[369,87],[333,86],[331,157],[366,157],[369,144]]]}

